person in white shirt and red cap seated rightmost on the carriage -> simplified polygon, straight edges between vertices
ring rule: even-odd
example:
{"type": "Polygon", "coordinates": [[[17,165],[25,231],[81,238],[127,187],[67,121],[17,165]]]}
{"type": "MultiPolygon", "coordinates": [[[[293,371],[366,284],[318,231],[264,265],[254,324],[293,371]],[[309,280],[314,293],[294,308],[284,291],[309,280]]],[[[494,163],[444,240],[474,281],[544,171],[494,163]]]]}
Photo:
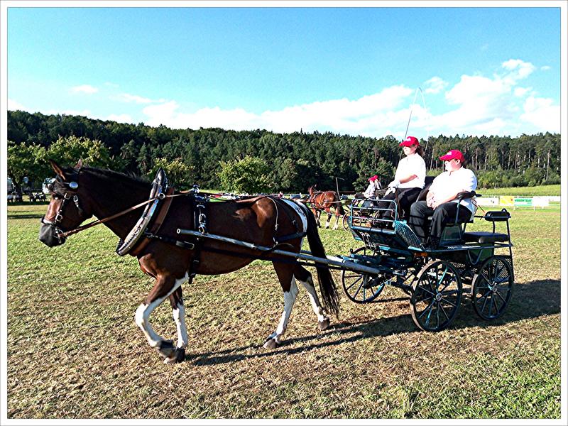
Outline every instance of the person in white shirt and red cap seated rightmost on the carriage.
{"type": "MultiPolygon", "coordinates": [[[[437,249],[445,224],[454,222],[458,208],[457,195],[477,187],[477,178],[464,167],[465,159],[460,151],[452,149],[439,159],[444,161],[446,171],[432,182],[426,201],[417,201],[412,205],[408,221],[415,234],[430,249],[437,249]],[[431,224],[427,220],[430,216],[431,224]]],[[[471,199],[461,200],[460,204],[458,220],[467,222],[475,214],[476,206],[471,199]]]]}

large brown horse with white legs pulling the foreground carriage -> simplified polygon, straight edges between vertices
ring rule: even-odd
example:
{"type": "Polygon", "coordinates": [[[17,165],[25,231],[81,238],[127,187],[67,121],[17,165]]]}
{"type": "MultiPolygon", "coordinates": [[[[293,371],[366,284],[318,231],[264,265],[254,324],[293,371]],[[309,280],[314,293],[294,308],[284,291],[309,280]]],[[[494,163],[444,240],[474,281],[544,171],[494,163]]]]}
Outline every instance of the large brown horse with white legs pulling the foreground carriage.
{"type": "Polygon", "coordinates": [[[229,273],[258,258],[272,261],[283,290],[284,310],[275,331],[263,341],[263,347],[267,349],[274,349],[283,342],[299,291],[297,281],[307,290],[320,330],[329,327],[329,315],[337,317],[339,297],[328,266],[322,263],[315,266],[322,306],[312,274],[300,265],[297,257],[283,260],[272,251],[259,252],[254,248],[272,246],[299,253],[303,236],[307,236],[312,255],[326,258],[315,217],[305,205],[270,196],[204,202],[206,195],[199,195],[199,198],[195,191],[184,193],[173,187],[161,192],[158,197],[148,199],[156,181],[151,184],[112,170],[87,167],[81,161],[72,168],[60,167],[53,161],[50,163],[57,177],[50,185],[51,200],[45,217],[41,219],[39,235],[40,241],[48,247],[65,244],[71,234],[101,223],[119,237],[119,246],[124,246],[124,241],[135,229],[133,226],[136,226],[144,204],[155,200],[169,203],[167,209],[165,204],[160,207],[156,218],[156,221],[161,221],[158,234],[143,234],[143,239],[127,253],[135,256],[141,270],[154,278],[152,290],[136,310],[135,322],[148,344],[157,349],[166,364],[185,360],[188,337],[181,285],[188,280],[191,282],[195,275],[229,273]],[[165,216],[161,214],[164,209],[165,216]],[[91,217],[98,220],[80,226],[91,217]],[[198,234],[201,237],[180,236],[180,228],[200,229],[198,234]],[[251,245],[251,249],[229,244],[206,238],[208,235],[221,235],[254,246],[251,245]],[[176,346],[173,341],[160,337],[150,323],[151,313],[166,299],[170,301],[177,327],[176,346]]]}

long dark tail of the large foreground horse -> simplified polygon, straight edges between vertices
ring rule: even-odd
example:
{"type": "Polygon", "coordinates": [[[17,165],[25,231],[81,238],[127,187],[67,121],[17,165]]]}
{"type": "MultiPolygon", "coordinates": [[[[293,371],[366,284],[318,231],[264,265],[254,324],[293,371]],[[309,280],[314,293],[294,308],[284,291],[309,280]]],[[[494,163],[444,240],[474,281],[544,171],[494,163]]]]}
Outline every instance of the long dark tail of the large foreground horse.
{"type": "MultiPolygon", "coordinates": [[[[317,232],[317,224],[315,217],[309,209],[306,209],[307,217],[307,242],[310,244],[312,256],[319,258],[327,258],[325,249],[317,232]]],[[[327,266],[316,263],[317,280],[320,283],[320,293],[322,293],[322,302],[327,312],[333,313],[336,317],[339,314],[339,296],[337,288],[332,277],[332,273],[327,266]]]]}

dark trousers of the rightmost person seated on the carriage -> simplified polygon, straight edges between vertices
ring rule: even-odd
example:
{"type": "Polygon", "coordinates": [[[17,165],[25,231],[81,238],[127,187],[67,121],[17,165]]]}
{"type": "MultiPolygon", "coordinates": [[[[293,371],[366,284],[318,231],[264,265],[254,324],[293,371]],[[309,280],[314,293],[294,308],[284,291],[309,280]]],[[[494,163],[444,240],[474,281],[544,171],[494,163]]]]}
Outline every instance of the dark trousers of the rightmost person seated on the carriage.
{"type": "MultiPolygon", "coordinates": [[[[446,224],[453,224],[456,220],[457,202],[446,202],[439,205],[436,209],[428,207],[425,201],[417,201],[410,208],[410,219],[408,224],[415,234],[422,240],[427,242],[430,240],[435,244],[439,243],[442,231],[446,224]],[[432,216],[432,223],[428,217],[432,216]]],[[[467,207],[459,207],[458,222],[467,222],[471,217],[471,212],[467,207]]]]}

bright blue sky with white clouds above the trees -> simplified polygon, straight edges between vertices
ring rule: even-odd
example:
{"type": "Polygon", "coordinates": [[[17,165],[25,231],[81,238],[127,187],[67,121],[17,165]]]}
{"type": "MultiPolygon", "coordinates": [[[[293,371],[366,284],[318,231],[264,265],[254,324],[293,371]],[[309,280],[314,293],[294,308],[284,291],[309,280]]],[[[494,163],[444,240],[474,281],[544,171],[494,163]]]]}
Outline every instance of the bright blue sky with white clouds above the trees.
{"type": "Polygon", "coordinates": [[[420,87],[409,134],[421,138],[559,132],[560,15],[10,7],[8,109],[403,138],[420,87]]]}

